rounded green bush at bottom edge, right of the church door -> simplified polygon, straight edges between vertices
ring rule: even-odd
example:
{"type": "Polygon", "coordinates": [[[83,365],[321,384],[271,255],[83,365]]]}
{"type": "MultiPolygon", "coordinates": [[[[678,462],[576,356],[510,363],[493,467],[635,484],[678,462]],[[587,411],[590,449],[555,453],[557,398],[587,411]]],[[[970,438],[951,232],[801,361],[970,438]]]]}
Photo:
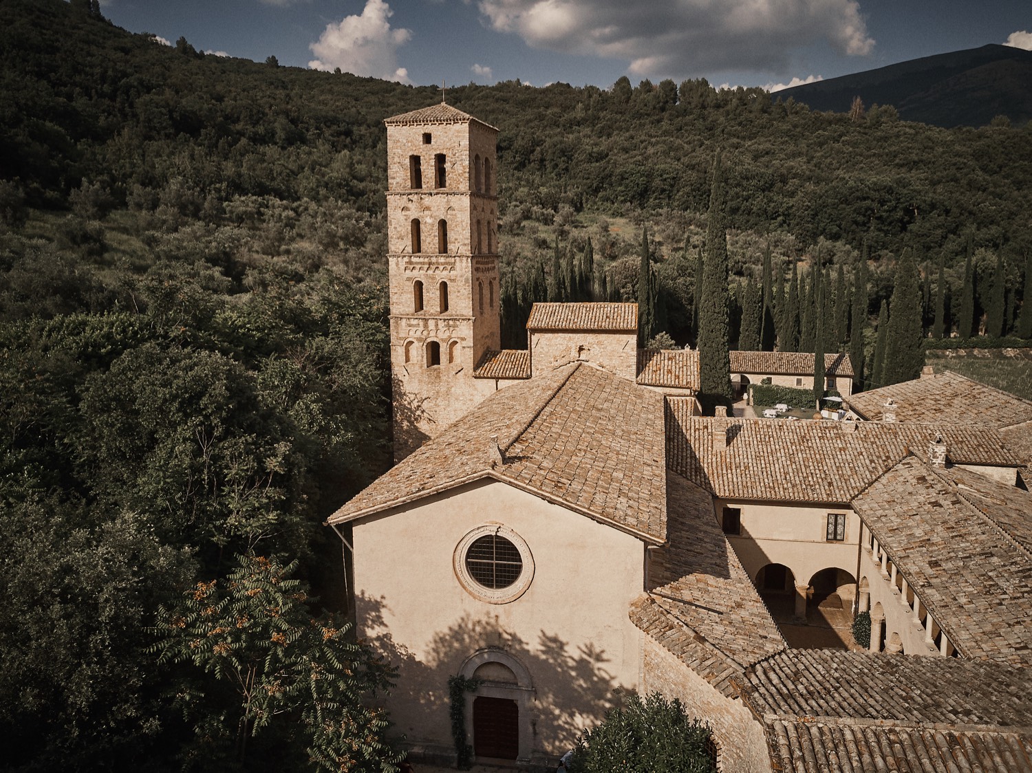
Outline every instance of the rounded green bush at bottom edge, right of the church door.
{"type": "Polygon", "coordinates": [[[716,760],[710,729],[689,718],[676,698],[626,697],[577,741],[571,773],[711,773],[716,760]]]}

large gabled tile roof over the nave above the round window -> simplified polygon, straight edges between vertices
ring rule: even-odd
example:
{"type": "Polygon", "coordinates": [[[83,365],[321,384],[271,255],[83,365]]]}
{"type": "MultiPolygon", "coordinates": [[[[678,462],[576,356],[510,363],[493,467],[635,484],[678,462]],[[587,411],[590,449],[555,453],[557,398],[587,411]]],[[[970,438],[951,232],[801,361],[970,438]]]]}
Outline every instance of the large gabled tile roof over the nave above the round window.
{"type": "Polygon", "coordinates": [[[589,365],[565,365],[498,390],[329,522],[493,478],[658,544],[667,536],[663,426],[663,395],[589,365]],[[492,464],[491,436],[502,464],[492,464]]]}

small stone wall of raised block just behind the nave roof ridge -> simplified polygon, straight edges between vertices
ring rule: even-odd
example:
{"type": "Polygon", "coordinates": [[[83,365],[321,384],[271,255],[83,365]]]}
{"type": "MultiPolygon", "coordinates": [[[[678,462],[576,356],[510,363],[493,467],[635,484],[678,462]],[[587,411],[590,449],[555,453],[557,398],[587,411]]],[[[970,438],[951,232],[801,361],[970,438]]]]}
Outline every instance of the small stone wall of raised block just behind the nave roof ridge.
{"type": "Polygon", "coordinates": [[[535,376],[573,360],[593,362],[632,381],[638,375],[636,332],[535,330],[530,332],[529,346],[535,376]]]}

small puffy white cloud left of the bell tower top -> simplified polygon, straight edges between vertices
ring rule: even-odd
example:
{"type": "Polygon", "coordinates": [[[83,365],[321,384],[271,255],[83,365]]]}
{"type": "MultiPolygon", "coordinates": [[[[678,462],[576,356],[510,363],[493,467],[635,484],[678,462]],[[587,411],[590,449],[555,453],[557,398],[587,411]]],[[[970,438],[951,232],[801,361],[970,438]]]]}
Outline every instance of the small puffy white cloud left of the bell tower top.
{"type": "Polygon", "coordinates": [[[397,50],[412,39],[412,30],[392,29],[394,11],[384,0],[366,0],[362,14],[328,24],[319,39],[309,45],[318,59],[314,70],[340,67],[356,75],[409,83],[409,71],[397,66],[397,50]]]}

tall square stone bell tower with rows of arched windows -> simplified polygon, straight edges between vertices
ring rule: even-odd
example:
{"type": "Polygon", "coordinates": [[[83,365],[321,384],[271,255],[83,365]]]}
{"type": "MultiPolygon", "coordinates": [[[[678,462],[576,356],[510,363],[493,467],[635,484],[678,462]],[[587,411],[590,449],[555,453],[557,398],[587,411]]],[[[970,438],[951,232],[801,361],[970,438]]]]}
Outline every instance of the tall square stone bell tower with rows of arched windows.
{"type": "Polygon", "coordinates": [[[486,396],[474,368],[501,348],[498,130],[444,102],[384,123],[400,460],[486,396]]]}

